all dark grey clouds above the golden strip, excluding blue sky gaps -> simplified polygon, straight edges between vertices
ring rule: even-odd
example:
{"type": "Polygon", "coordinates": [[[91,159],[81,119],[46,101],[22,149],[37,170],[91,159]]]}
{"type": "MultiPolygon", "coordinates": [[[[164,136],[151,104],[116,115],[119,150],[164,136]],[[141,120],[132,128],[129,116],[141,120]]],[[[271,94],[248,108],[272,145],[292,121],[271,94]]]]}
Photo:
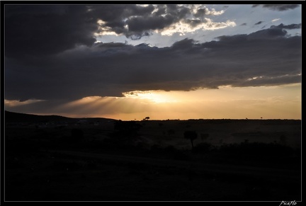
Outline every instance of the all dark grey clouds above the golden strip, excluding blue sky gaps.
{"type": "Polygon", "coordinates": [[[301,37],[287,31],[301,24],[152,47],[96,42],[95,35],[139,39],[153,31],[166,32],[176,23],[188,28],[205,25],[209,16],[224,11],[179,5],[6,6],[5,11],[7,100],[73,100],[123,96],[128,91],[301,82],[301,37]]]}

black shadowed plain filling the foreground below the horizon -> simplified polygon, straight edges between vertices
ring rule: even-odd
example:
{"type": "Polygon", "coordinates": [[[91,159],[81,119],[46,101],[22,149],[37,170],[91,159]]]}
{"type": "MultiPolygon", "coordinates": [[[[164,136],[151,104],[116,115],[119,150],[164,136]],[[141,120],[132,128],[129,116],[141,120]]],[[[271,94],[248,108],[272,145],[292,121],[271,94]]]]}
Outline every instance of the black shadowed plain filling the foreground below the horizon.
{"type": "Polygon", "coordinates": [[[4,198],[300,201],[300,132],[297,120],[11,124],[4,198]],[[194,149],[186,130],[198,133],[194,149]]]}

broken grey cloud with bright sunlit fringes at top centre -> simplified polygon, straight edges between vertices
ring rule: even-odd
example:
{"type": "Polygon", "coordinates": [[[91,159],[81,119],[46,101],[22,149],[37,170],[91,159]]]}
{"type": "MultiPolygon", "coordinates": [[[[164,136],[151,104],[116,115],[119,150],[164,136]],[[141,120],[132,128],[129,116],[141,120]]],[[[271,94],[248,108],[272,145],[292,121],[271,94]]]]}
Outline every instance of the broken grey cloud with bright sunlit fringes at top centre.
{"type": "Polygon", "coordinates": [[[207,8],[186,5],[103,5],[91,6],[91,15],[103,21],[99,31],[125,35],[132,40],[139,40],[153,30],[164,30],[179,21],[184,21],[191,28],[205,22],[207,8]],[[195,18],[195,19],[194,19],[195,18]],[[200,19],[199,19],[200,18],[200,19]]]}

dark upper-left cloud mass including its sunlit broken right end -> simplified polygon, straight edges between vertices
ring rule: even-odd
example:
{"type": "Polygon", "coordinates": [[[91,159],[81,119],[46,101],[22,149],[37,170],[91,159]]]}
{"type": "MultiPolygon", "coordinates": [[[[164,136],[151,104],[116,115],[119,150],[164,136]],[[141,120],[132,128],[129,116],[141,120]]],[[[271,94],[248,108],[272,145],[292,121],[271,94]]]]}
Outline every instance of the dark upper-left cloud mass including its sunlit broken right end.
{"type": "Polygon", "coordinates": [[[205,16],[205,9],[181,5],[6,5],[5,55],[52,55],[77,45],[91,46],[96,33],[113,32],[132,40],[164,30],[183,20],[191,28],[201,23],[191,16],[205,16]],[[98,24],[98,21],[102,21],[98,24]]]}

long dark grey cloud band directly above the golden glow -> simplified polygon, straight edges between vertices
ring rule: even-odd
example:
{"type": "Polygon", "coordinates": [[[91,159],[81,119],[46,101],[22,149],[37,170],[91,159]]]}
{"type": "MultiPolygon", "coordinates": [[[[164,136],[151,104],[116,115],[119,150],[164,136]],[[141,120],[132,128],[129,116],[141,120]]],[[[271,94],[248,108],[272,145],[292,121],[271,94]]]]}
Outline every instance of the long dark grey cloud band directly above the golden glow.
{"type": "Polygon", "coordinates": [[[290,37],[278,27],[205,43],[186,38],[162,48],[115,42],[79,45],[57,55],[6,57],[5,95],[23,101],[78,99],[136,90],[299,83],[301,57],[301,37],[290,37]]]}

